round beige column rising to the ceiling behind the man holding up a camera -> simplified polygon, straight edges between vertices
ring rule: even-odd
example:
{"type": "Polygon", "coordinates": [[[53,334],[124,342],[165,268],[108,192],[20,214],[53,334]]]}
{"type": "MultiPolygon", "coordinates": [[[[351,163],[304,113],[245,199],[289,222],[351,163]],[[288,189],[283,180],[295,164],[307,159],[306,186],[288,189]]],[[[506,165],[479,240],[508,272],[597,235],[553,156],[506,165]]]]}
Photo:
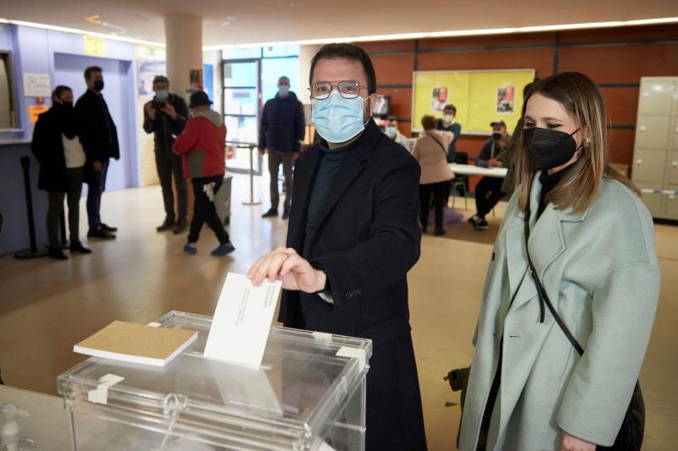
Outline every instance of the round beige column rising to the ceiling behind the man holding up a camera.
{"type": "Polygon", "coordinates": [[[203,68],[203,20],[195,16],[165,16],[169,89],[188,102],[191,70],[203,68]]]}

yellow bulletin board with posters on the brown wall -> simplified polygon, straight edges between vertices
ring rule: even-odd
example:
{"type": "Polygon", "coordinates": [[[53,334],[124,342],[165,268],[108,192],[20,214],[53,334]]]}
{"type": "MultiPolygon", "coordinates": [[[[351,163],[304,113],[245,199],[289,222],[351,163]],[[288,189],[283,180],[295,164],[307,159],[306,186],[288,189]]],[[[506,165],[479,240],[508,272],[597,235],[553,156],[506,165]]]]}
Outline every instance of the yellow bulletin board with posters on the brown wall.
{"type": "Polygon", "coordinates": [[[462,134],[490,135],[490,123],[502,120],[511,133],[523,108],[523,87],[534,69],[420,70],[412,86],[412,131],[421,131],[422,116],[443,117],[446,104],[457,108],[462,134]]]}

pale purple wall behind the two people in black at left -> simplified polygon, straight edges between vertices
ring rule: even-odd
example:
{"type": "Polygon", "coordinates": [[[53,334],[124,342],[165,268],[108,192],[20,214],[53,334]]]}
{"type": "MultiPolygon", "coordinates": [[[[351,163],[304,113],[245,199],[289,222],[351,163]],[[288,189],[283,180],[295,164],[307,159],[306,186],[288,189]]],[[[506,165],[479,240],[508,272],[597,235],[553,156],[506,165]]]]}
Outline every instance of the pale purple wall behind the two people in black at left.
{"type": "MultiPolygon", "coordinates": [[[[0,232],[0,255],[28,247],[28,225],[24,185],[19,163],[20,156],[30,155],[33,124],[28,120],[28,107],[36,104],[35,98],[25,97],[23,73],[47,73],[52,87],[68,82],[75,95],[84,87],[82,72],[86,66],[104,68],[104,98],[108,103],[118,128],[121,145],[121,160],[113,162],[106,186],[109,190],[139,186],[139,155],[137,146],[136,70],[134,60],[136,46],[121,41],[106,40],[106,58],[85,56],[82,35],[62,33],[41,28],[0,24],[0,50],[12,52],[14,68],[14,98],[17,102],[18,129],[0,131],[0,213],[5,222],[0,232]],[[79,72],[77,78],[71,77],[79,72]],[[18,141],[7,144],[7,141],[18,141]],[[22,143],[23,141],[23,143],[22,143]]],[[[49,105],[49,99],[45,99],[49,105]]],[[[45,213],[47,194],[37,190],[37,160],[31,156],[31,184],[33,186],[33,209],[38,244],[47,241],[45,213]]],[[[86,186],[85,186],[86,188],[86,186]]],[[[81,224],[81,235],[87,233],[87,225],[81,224]]],[[[82,238],[82,237],[81,237],[82,238]]]]}

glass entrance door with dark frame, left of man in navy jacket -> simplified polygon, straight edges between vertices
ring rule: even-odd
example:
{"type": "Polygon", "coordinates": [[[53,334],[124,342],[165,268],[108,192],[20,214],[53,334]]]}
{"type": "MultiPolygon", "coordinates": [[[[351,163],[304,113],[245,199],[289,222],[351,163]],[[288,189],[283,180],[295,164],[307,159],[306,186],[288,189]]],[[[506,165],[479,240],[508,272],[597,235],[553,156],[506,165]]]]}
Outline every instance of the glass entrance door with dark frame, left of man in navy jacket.
{"type": "MultiPolygon", "coordinates": [[[[259,141],[259,106],[260,102],[260,60],[224,61],[224,123],[226,123],[226,141],[258,144],[259,141]]],[[[254,173],[262,173],[262,156],[258,150],[252,153],[254,173]]],[[[250,150],[235,148],[233,158],[228,160],[228,170],[249,173],[250,150]]]]}

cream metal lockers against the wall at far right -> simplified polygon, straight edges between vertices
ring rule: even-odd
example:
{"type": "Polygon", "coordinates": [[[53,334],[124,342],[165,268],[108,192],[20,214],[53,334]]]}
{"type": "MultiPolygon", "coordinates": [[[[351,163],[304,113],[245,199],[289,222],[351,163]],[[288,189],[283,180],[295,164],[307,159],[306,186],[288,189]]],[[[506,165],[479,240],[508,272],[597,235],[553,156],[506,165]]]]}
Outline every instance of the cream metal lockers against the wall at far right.
{"type": "Polygon", "coordinates": [[[678,220],[678,77],[642,77],[632,178],[652,217],[678,220]]]}

